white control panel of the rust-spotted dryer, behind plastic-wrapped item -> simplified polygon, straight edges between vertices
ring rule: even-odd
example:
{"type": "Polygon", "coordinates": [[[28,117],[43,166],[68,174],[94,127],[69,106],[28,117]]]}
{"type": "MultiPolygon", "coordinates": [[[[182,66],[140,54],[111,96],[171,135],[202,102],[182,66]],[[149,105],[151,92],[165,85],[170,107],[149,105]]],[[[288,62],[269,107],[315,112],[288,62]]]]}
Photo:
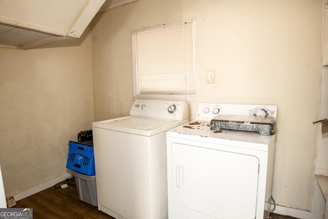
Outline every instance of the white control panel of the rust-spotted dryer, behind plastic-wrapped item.
{"type": "Polygon", "coordinates": [[[196,120],[211,121],[212,118],[217,115],[245,115],[277,118],[277,106],[201,103],[198,106],[196,120]]]}

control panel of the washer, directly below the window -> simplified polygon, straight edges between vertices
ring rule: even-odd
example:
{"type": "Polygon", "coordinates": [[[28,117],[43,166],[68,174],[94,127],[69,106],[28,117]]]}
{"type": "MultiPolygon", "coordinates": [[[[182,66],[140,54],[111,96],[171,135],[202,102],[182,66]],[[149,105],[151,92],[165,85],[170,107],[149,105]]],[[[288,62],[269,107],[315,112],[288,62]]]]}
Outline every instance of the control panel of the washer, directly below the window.
{"type": "Polygon", "coordinates": [[[130,115],[168,120],[186,120],[189,118],[188,104],[183,101],[154,101],[136,99],[131,107],[130,115]]]}

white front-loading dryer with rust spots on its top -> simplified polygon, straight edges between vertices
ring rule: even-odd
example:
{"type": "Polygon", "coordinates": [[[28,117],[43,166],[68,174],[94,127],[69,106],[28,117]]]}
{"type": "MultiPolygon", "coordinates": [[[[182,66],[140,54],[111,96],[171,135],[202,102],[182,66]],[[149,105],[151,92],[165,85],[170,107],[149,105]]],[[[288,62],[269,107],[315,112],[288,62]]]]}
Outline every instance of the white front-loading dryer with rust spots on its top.
{"type": "Polygon", "coordinates": [[[276,106],[200,104],[167,132],[169,219],[269,218],[275,134],[210,130],[216,115],[270,116],[276,106]]]}

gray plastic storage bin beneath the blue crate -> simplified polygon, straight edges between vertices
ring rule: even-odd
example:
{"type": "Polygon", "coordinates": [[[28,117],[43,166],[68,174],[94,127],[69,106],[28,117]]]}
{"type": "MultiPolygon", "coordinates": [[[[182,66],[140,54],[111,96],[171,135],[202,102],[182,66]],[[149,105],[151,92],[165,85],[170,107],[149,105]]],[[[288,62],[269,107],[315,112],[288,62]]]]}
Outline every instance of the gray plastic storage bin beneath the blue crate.
{"type": "Polygon", "coordinates": [[[96,176],[85,175],[75,171],[72,172],[79,199],[93,206],[98,206],[96,176]]]}

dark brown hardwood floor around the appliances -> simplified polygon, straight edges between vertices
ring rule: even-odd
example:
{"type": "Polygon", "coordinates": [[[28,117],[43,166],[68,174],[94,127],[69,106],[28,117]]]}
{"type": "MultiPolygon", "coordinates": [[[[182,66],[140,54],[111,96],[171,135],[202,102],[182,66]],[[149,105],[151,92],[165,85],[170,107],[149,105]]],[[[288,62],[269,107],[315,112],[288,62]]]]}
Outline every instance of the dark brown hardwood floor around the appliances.
{"type": "MultiPolygon", "coordinates": [[[[64,184],[64,183],[62,183],[64,184]]],[[[65,189],[53,187],[45,189],[16,202],[15,208],[33,208],[34,219],[55,218],[99,218],[114,219],[86,202],[80,201],[75,182],[69,180],[69,187],[65,189]]],[[[295,217],[270,214],[271,219],[297,219],[295,217]]],[[[133,219],[133,218],[132,218],[133,219]]],[[[248,218],[245,218],[248,219],[248,218]]]]}

